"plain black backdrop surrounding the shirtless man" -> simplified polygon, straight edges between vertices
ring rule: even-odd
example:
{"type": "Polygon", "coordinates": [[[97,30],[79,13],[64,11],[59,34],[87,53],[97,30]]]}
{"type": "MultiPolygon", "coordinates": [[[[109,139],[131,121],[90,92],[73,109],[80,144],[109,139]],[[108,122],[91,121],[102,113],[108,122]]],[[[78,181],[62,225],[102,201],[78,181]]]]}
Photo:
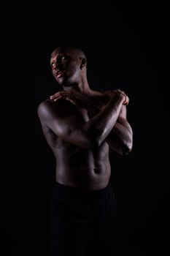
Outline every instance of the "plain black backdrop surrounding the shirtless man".
{"type": "Polygon", "coordinates": [[[6,17],[1,20],[1,255],[50,256],[55,159],[36,108],[59,89],[49,60],[63,44],[85,50],[92,89],[120,88],[130,98],[133,151],[125,158],[110,151],[120,255],[166,251],[166,7],[123,6],[101,14],[8,12],[6,17]]]}

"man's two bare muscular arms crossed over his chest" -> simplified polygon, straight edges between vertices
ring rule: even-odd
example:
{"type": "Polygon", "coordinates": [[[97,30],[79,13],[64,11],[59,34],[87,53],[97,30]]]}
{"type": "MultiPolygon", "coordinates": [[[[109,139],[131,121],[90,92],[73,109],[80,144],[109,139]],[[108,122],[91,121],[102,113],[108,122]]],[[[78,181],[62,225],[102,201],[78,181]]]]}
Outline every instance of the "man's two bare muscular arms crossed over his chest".
{"type": "MultiPolygon", "coordinates": [[[[59,98],[65,98],[74,105],[82,104],[81,97],[79,98],[75,94],[61,93],[58,94],[59,98]]],[[[100,146],[106,140],[118,154],[125,155],[131,151],[132,129],[126,120],[125,105],[128,104],[128,97],[125,94],[115,94],[103,110],[99,110],[97,107],[94,110],[86,104],[87,116],[93,111],[93,117],[85,122],[80,122],[75,115],[63,118],[57,110],[56,103],[54,107],[53,102],[42,102],[38,108],[38,115],[42,124],[47,125],[63,140],[87,149],[100,146]]]]}

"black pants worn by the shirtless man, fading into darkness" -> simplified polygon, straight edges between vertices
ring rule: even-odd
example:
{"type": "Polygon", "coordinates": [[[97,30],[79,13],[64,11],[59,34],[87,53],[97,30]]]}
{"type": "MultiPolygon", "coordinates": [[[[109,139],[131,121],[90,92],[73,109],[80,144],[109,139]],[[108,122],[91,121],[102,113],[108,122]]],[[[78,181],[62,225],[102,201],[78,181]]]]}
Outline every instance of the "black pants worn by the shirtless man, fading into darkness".
{"type": "Polygon", "coordinates": [[[117,203],[112,187],[87,191],[56,183],[50,204],[52,256],[114,255],[117,203]]]}

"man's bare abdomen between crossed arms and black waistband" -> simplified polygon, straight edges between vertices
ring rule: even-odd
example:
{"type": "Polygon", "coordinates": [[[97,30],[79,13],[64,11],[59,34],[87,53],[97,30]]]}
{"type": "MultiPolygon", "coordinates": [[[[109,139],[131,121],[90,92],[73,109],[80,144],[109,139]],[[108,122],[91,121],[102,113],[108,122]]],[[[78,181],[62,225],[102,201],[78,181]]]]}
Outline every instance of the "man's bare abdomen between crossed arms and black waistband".
{"type": "Polygon", "coordinates": [[[56,151],[55,175],[56,181],[61,184],[101,189],[107,186],[110,173],[107,143],[102,143],[93,151],[83,150],[70,144],[56,151]]]}

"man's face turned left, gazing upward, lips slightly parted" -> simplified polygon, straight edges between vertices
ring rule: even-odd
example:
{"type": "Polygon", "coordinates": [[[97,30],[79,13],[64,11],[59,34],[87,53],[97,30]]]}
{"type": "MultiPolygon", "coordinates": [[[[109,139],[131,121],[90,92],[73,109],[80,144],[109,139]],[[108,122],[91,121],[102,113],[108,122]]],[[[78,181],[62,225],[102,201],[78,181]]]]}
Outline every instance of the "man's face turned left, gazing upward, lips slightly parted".
{"type": "Polygon", "coordinates": [[[70,86],[80,79],[80,59],[74,50],[56,49],[50,58],[50,66],[55,80],[61,86],[70,86]]]}

